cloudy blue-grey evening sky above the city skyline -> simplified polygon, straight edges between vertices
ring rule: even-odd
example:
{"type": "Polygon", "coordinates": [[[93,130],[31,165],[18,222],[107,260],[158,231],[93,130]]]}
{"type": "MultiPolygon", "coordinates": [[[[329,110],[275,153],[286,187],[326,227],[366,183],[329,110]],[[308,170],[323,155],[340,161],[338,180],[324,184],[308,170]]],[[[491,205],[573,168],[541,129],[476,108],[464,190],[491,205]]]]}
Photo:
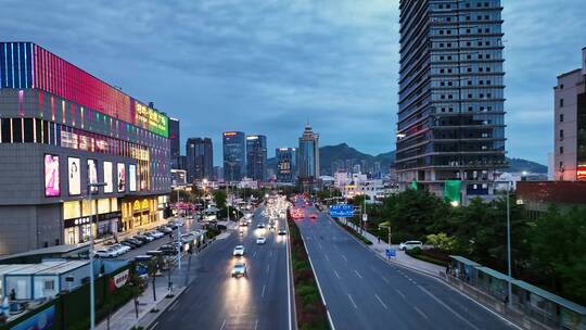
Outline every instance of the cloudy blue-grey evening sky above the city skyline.
{"type": "MultiPolygon", "coordinates": [[[[509,156],[547,162],[552,87],[586,46],[586,1],[504,0],[509,156]]],[[[320,143],[395,149],[398,0],[0,3],[0,36],[34,41],[181,120],[188,137],[264,134],[269,156],[307,120],[320,143]]]]}

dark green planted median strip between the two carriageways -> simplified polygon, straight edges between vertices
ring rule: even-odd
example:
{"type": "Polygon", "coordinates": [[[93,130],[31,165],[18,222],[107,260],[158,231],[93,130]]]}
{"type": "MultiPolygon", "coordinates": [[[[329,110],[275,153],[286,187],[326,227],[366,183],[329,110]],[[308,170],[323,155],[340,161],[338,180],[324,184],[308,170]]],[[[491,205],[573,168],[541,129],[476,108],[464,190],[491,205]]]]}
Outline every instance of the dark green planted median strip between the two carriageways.
{"type": "Polygon", "coordinates": [[[290,216],[288,216],[288,223],[297,327],[298,329],[330,329],[326,306],[320,299],[315,274],[305,251],[300,229],[290,216]]]}

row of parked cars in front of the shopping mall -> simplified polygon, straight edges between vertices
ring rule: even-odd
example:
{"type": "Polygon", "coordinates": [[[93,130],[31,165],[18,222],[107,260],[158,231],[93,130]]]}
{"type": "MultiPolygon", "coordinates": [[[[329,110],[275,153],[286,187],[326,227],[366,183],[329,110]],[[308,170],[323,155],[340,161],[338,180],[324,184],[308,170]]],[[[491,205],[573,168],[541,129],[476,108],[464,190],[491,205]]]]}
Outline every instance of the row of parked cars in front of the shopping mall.
{"type": "Polygon", "coordinates": [[[153,230],[126,238],[119,243],[104,245],[94,251],[94,255],[99,258],[118,257],[132,249],[137,249],[149,242],[161,239],[166,234],[171,234],[173,231],[179,226],[183,225],[179,221],[169,221],[167,225],[158,226],[153,230]]]}

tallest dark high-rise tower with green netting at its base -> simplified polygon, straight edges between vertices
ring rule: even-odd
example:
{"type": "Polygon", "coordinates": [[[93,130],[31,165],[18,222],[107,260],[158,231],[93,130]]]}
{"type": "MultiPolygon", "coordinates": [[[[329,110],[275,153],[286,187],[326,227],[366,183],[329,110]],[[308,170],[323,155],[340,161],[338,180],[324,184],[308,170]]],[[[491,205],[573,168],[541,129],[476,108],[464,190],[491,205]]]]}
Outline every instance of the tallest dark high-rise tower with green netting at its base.
{"type": "Polygon", "coordinates": [[[506,167],[500,0],[400,0],[399,10],[400,189],[416,181],[454,203],[489,195],[506,167]]]}

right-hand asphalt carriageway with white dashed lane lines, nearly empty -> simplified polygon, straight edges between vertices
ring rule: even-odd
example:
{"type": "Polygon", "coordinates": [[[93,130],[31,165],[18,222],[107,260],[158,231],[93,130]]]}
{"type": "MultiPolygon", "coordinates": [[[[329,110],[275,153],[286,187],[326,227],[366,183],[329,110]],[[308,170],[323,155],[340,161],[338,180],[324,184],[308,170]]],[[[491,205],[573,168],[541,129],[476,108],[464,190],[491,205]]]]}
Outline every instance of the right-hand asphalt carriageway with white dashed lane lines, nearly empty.
{"type": "Polygon", "coordinates": [[[517,329],[438,279],[380,259],[314,207],[305,215],[296,224],[336,330],[517,329]]]}

